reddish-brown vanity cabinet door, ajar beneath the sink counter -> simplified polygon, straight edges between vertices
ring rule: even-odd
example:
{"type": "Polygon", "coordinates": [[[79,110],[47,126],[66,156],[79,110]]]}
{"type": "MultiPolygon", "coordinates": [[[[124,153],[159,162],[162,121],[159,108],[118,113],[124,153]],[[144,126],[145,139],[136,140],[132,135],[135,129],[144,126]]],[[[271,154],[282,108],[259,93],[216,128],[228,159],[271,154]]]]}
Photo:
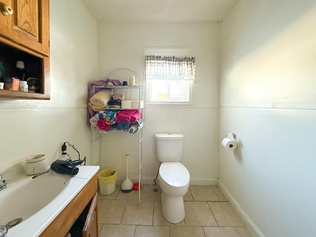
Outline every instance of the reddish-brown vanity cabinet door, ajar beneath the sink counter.
{"type": "Polygon", "coordinates": [[[97,193],[91,201],[89,212],[85,220],[82,237],[98,237],[98,198],[97,193]]]}

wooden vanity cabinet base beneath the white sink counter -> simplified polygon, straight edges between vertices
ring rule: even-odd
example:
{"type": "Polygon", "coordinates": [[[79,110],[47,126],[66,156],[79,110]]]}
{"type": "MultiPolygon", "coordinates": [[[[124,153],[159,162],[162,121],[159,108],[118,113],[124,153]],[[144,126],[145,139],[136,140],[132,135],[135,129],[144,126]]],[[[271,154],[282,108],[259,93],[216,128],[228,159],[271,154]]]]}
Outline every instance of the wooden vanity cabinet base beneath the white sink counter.
{"type": "Polygon", "coordinates": [[[76,221],[82,218],[85,210],[87,210],[88,214],[85,217],[82,236],[98,237],[96,175],[40,234],[40,237],[65,237],[76,221]]]}

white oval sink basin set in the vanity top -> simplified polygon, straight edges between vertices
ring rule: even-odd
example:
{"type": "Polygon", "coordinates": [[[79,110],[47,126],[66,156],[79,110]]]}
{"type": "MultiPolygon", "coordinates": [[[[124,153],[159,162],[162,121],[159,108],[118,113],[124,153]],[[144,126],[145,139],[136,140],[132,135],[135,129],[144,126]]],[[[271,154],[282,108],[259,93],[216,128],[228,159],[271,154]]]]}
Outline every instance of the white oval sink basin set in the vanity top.
{"type": "MultiPolygon", "coordinates": [[[[7,175],[9,176],[9,175],[7,175]]],[[[0,225],[13,227],[45,207],[68,185],[70,176],[45,173],[25,176],[0,191],[0,225]]]]}

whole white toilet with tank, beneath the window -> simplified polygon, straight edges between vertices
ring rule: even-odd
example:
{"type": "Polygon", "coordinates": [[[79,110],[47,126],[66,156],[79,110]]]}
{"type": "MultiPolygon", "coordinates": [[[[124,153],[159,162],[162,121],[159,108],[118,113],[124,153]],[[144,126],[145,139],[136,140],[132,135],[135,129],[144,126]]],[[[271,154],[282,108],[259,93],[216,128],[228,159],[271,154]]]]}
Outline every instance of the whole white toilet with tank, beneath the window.
{"type": "Polygon", "coordinates": [[[178,133],[155,134],[159,167],[159,185],[162,190],[162,215],[177,224],[185,217],[183,196],[189,190],[190,173],[179,161],[182,156],[183,135],[178,133]]]}

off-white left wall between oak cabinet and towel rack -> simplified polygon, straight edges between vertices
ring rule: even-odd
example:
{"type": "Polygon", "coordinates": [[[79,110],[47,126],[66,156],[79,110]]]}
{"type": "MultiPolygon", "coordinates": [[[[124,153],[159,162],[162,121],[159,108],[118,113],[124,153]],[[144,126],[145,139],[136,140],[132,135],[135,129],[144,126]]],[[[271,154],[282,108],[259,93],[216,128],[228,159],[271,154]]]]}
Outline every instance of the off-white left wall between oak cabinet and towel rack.
{"type": "MultiPolygon", "coordinates": [[[[50,1],[51,100],[0,99],[0,167],[30,154],[54,161],[66,141],[90,159],[87,81],[96,75],[96,20],[80,0],[50,1]]],[[[78,158],[76,151],[67,152],[78,158]]]]}

